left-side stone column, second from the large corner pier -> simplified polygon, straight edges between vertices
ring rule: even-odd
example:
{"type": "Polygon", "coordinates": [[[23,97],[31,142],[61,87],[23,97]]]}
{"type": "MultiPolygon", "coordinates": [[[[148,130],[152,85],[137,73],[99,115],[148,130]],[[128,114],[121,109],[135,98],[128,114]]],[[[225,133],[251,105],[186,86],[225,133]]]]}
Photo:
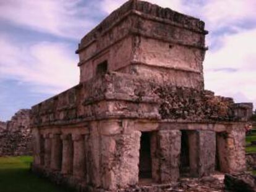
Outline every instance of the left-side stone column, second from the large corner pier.
{"type": "Polygon", "coordinates": [[[73,141],[71,134],[61,135],[62,140],[62,174],[72,174],[73,173],[73,141]]]}

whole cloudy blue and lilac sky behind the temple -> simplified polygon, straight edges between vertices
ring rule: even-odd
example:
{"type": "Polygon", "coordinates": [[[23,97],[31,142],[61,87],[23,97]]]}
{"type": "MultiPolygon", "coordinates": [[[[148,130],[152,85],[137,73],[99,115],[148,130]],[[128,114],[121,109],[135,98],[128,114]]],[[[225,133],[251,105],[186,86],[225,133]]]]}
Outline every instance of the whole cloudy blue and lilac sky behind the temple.
{"type": "MultiPolygon", "coordinates": [[[[148,0],[205,22],[205,89],[256,106],[255,0],[148,0]]],[[[80,39],[125,0],[0,0],[0,120],[79,83],[80,39]]]]}

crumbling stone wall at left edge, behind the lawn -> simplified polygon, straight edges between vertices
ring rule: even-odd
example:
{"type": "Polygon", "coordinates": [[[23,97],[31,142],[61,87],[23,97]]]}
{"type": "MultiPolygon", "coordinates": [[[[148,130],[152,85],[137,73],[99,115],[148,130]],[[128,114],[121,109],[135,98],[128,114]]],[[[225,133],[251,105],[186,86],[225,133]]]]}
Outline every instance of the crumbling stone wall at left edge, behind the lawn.
{"type": "Polygon", "coordinates": [[[29,127],[30,110],[18,111],[0,131],[0,156],[32,154],[32,135],[29,127]]]}

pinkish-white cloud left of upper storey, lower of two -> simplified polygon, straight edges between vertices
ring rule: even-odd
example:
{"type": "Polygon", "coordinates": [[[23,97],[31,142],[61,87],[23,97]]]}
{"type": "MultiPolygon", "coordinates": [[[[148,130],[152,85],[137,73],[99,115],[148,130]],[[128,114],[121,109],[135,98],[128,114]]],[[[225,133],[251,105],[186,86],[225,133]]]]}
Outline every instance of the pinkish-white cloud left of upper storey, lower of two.
{"type": "Polygon", "coordinates": [[[33,85],[35,92],[59,93],[79,83],[77,56],[69,44],[43,41],[17,44],[0,38],[0,80],[12,79],[33,85]]]}

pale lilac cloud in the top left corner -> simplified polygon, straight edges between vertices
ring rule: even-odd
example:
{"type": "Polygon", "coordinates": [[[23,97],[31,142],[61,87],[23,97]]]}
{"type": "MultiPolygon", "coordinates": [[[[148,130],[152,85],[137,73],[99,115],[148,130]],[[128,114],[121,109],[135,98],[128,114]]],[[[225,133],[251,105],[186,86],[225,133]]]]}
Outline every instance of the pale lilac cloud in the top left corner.
{"type": "Polygon", "coordinates": [[[93,27],[90,14],[82,0],[0,2],[0,20],[65,38],[81,38],[93,27]]]}

